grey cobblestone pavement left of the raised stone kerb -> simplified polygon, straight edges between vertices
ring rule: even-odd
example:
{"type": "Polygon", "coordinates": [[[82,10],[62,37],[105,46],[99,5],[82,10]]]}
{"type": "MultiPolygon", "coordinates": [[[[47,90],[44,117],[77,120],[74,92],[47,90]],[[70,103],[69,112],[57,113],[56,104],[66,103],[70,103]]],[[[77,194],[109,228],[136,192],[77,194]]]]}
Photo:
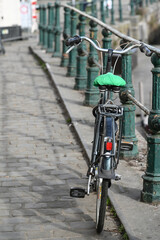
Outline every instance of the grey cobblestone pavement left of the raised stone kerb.
{"type": "Polygon", "coordinates": [[[8,44],[0,56],[0,240],[121,239],[109,212],[96,234],[94,194],[69,197],[86,183],[86,162],[28,45],[8,44]]]}

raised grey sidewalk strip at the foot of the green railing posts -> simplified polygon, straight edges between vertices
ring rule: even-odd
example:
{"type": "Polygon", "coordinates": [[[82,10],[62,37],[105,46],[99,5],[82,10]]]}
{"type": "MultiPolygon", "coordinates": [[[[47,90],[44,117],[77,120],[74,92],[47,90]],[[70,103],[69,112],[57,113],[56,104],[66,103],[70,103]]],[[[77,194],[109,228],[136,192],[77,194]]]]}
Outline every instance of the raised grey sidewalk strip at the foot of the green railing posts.
{"type": "MultiPolygon", "coordinates": [[[[33,53],[46,63],[48,73],[57,89],[61,100],[71,118],[71,122],[83,146],[87,158],[91,155],[91,142],[93,140],[92,109],[83,106],[84,93],[73,90],[74,78],[66,77],[66,68],[60,67],[60,59],[52,58],[39,46],[31,46],[33,53]]],[[[140,156],[143,158],[146,151],[146,142],[138,134],[140,156]]],[[[140,157],[140,158],[141,158],[140,157]]],[[[137,159],[130,164],[120,161],[118,173],[122,180],[113,182],[109,190],[110,200],[117,215],[125,227],[131,240],[159,240],[160,239],[160,206],[152,206],[140,202],[142,178],[144,174],[144,160],[137,159]],[[131,166],[133,165],[133,166],[131,166]]]]}

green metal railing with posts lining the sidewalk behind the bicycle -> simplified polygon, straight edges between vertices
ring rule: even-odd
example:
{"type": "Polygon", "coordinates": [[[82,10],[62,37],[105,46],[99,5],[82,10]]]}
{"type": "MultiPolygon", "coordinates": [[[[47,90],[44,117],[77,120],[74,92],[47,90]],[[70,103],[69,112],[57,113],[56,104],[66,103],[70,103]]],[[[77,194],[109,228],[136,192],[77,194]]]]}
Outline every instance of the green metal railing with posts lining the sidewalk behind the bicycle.
{"type": "MultiPolygon", "coordinates": [[[[101,1],[102,4],[103,1],[101,1]]],[[[119,1],[121,2],[121,1],[119,1]]],[[[146,6],[153,4],[154,1],[143,1],[143,4],[146,6]]],[[[112,4],[114,2],[112,1],[112,4]]],[[[130,2],[135,7],[131,1],[130,2]]],[[[94,2],[95,4],[95,2],[94,2]]],[[[131,5],[131,15],[134,15],[135,12],[132,12],[131,5]]],[[[95,6],[95,5],[94,5],[95,6]]],[[[102,5],[100,5],[102,8],[102,5]]],[[[114,5],[112,5],[111,22],[114,22],[114,5]]],[[[120,5],[119,5],[120,6],[120,5]]],[[[140,1],[136,2],[136,6],[142,7],[140,1]]],[[[136,40],[130,36],[120,33],[118,30],[114,29],[111,25],[106,24],[104,19],[103,21],[98,20],[95,15],[88,15],[84,11],[80,11],[82,5],[79,8],[73,6],[62,4],[56,1],[52,5],[48,5],[48,8],[45,6],[40,6],[40,24],[39,24],[39,44],[43,48],[47,49],[47,30],[53,31],[54,33],[54,42],[51,47],[48,45],[48,48],[52,49],[54,47],[53,56],[61,57],[61,66],[67,67],[67,75],[75,76],[75,89],[85,90],[85,100],[84,104],[86,105],[95,105],[98,99],[98,90],[93,86],[94,78],[99,74],[99,56],[92,46],[89,46],[89,54],[86,52],[86,45],[83,43],[77,48],[77,51],[74,50],[70,52],[69,56],[66,55],[66,47],[64,40],[75,34],[85,35],[86,32],[92,40],[96,41],[98,29],[101,29],[102,39],[99,39],[103,43],[103,47],[109,48],[112,45],[112,36],[115,35],[119,39],[122,39],[125,42],[140,43],[139,40],[136,40]],[[55,19],[50,20],[49,23],[53,23],[52,28],[47,28],[46,12],[52,9],[55,16],[55,19]],[[64,27],[63,30],[60,26],[60,8],[64,9],[64,27]],[[89,22],[88,22],[89,20],[89,22]],[[69,27],[70,26],[70,27],[69,27]],[[63,33],[63,39],[62,39],[63,33]],[[61,45],[62,43],[62,51],[61,45]],[[86,66],[86,67],[85,67],[86,66]]],[[[103,11],[102,11],[103,12],[103,11]]],[[[103,14],[102,14],[103,15],[103,14]]],[[[104,17],[104,15],[103,15],[104,17]]],[[[107,16],[106,16],[107,17],[107,16]]],[[[122,21],[122,19],[119,19],[122,21]]],[[[52,36],[53,37],[53,36],[52,36]]],[[[152,51],[151,62],[153,64],[152,74],[153,74],[153,89],[152,89],[152,109],[146,110],[149,114],[148,126],[150,133],[147,135],[148,143],[148,157],[147,157],[147,170],[143,176],[143,191],[142,191],[142,201],[144,202],[160,202],[160,49],[157,49],[153,46],[147,45],[148,48],[152,51]]],[[[107,56],[103,59],[104,65],[107,62],[107,56]]],[[[132,54],[127,53],[122,56],[122,77],[126,81],[126,86],[122,88],[120,92],[120,100],[124,108],[124,118],[123,118],[123,130],[122,137],[126,141],[132,141],[134,147],[132,151],[122,151],[121,157],[126,159],[136,159],[138,155],[137,148],[137,138],[135,135],[135,105],[137,101],[134,100],[134,88],[132,84],[132,54]]],[[[138,103],[141,106],[140,103],[138,103]]]]}

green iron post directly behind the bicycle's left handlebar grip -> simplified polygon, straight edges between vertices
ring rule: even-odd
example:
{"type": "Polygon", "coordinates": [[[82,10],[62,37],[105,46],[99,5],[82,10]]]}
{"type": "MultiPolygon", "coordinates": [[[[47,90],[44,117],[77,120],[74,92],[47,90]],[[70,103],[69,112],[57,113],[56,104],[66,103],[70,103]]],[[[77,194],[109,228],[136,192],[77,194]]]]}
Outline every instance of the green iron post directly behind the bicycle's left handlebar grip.
{"type": "MultiPolygon", "coordinates": [[[[71,10],[71,36],[76,35],[76,28],[77,28],[77,13],[71,10]]],[[[74,48],[69,53],[69,64],[67,67],[67,76],[68,77],[75,77],[76,76],[76,58],[77,58],[77,50],[74,48]]]]}

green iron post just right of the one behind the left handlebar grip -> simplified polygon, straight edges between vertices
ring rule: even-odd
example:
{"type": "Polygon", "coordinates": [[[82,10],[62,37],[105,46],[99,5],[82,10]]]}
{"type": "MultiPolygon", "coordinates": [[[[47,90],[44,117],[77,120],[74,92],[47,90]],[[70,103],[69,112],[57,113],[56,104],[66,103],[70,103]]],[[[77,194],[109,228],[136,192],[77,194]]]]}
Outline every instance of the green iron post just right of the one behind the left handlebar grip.
{"type": "MultiPolygon", "coordinates": [[[[85,20],[82,15],[79,16],[79,35],[85,36],[85,20]]],[[[86,56],[86,44],[82,42],[77,48],[77,73],[75,78],[75,89],[86,89],[87,86],[87,56],[86,56]]]]}

